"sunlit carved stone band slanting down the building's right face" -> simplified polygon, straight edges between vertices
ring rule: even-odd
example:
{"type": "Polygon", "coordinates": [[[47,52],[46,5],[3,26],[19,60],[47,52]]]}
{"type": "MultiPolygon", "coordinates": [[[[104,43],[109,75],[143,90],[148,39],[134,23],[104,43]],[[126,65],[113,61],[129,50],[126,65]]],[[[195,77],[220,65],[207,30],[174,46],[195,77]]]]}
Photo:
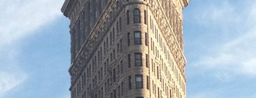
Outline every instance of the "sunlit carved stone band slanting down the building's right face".
{"type": "Polygon", "coordinates": [[[178,44],[177,36],[174,35],[174,31],[171,28],[170,23],[167,22],[168,19],[166,18],[163,9],[161,9],[159,1],[151,0],[149,9],[151,9],[156,19],[156,23],[158,24],[160,30],[162,31],[162,35],[164,35],[165,41],[167,42],[169,49],[171,49],[171,53],[174,56],[174,60],[177,63],[180,71],[182,72],[183,78],[186,80],[184,71],[186,60],[183,54],[183,50],[178,44]]]}

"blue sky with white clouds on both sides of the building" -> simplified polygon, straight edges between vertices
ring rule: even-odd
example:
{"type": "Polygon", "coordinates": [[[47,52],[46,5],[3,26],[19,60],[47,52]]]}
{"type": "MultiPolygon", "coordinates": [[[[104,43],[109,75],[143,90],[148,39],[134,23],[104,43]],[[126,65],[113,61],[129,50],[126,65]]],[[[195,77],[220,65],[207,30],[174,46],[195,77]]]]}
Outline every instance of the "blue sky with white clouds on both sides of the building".
{"type": "MultiPolygon", "coordinates": [[[[0,1],[0,98],[69,98],[64,0],[0,1]]],[[[183,9],[187,98],[256,98],[256,0],[183,9]]]]}

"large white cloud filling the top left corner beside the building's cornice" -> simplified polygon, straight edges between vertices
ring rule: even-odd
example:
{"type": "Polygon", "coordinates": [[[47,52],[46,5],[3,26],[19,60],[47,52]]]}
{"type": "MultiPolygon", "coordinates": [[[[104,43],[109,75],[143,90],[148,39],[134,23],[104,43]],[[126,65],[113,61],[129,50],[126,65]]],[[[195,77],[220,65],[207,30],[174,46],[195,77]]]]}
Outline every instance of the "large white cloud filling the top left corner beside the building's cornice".
{"type": "Polygon", "coordinates": [[[35,33],[61,16],[64,0],[3,0],[0,2],[0,49],[35,33]]]}

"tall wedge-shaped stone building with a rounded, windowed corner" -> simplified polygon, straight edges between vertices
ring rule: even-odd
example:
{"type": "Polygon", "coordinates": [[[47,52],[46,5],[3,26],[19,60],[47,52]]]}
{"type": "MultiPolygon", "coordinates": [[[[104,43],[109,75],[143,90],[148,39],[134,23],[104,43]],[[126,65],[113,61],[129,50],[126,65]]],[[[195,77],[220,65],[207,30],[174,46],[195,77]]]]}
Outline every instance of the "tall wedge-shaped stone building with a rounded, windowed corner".
{"type": "Polygon", "coordinates": [[[186,98],[189,0],[65,0],[71,98],[186,98]]]}

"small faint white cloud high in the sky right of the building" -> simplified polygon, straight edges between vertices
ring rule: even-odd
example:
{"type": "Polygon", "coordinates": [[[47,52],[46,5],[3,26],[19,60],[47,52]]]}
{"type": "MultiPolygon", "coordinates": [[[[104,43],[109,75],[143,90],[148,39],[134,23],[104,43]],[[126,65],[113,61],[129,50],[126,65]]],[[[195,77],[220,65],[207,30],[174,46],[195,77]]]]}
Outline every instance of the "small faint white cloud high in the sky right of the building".
{"type": "Polygon", "coordinates": [[[206,3],[202,8],[197,8],[194,17],[196,18],[196,22],[205,27],[212,27],[213,25],[225,26],[228,23],[240,21],[240,17],[236,12],[235,7],[229,0],[222,0],[221,3],[216,3],[216,1],[206,3]]]}

